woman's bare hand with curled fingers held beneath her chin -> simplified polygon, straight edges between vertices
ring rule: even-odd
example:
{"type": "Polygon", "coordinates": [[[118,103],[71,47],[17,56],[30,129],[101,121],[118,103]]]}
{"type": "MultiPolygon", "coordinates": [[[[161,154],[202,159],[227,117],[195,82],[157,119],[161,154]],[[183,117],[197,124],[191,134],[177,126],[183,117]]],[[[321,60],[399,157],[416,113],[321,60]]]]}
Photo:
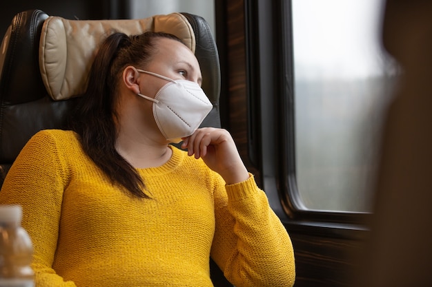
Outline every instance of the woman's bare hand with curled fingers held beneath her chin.
{"type": "Polygon", "coordinates": [[[183,138],[182,149],[188,149],[188,156],[202,158],[207,166],[219,173],[226,184],[235,184],[249,178],[235,142],[225,129],[204,127],[191,136],[183,138]]]}

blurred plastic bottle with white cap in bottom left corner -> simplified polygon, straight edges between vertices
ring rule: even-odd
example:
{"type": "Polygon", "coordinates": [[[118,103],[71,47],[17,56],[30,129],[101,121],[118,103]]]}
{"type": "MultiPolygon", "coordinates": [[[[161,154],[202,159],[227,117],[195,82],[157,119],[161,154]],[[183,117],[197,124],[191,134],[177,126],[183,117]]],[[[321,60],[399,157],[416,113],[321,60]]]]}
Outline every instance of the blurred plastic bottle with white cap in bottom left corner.
{"type": "Polygon", "coordinates": [[[21,218],[21,206],[0,205],[0,287],[35,286],[32,241],[21,218]]]}

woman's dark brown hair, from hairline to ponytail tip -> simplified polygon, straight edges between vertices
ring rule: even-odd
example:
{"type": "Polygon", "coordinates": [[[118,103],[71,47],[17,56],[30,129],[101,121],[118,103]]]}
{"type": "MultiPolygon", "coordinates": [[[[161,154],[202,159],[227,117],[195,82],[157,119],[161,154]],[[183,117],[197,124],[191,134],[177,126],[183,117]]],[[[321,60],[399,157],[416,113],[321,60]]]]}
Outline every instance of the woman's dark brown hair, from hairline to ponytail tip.
{"type": "Polygon", "coordinates": [[[70,128],[77,132],[84,151],[106,173],[139,198],[149,198],[137,170],[115,149],[115,111],[119,77],[125,67],[145,67],[157,51],[156,40],[175,39],[162,32],[128,36],[116,32],[101,44],[88,76],[88,87],[72,115],[70,128]]]}

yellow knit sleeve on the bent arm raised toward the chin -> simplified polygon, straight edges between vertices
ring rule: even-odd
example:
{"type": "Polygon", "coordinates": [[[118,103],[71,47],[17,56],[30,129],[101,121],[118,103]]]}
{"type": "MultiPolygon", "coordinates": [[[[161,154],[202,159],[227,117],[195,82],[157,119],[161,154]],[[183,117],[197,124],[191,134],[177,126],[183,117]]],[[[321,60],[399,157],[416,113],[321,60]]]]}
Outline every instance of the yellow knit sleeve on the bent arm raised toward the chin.
{"type": "Polygon", "coordinates": [[[235,286],[293,286],[295,262],[286,229],[251,175],[215,195],[211,255],[235,286]]]}

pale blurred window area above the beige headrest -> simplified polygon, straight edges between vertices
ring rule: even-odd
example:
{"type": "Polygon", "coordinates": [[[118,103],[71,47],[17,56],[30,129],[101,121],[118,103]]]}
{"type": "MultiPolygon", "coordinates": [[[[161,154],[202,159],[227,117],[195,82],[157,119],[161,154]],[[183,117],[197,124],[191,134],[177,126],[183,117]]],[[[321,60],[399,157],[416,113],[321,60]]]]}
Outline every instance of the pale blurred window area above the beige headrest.
{"type": "Polygon", "coordinates": [[[215,0],[130,0],[132,19],[141,19],[156,14],[188,12],[206,19],[215,37],[215,0]]]}

